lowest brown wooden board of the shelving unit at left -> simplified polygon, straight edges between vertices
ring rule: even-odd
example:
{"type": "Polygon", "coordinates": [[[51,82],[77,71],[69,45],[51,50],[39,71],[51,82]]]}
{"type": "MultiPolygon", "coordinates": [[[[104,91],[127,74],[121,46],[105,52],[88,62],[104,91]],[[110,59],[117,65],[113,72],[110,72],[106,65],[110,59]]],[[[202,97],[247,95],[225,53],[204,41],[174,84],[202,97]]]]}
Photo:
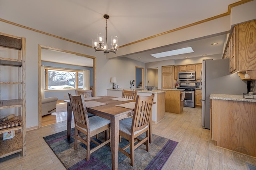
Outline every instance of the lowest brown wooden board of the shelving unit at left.
{"type": "Polygon", "coordinates": [[[0,137],[0,158],[22,151],[22,132],[15,133],[12,139],[0,137]]]}

